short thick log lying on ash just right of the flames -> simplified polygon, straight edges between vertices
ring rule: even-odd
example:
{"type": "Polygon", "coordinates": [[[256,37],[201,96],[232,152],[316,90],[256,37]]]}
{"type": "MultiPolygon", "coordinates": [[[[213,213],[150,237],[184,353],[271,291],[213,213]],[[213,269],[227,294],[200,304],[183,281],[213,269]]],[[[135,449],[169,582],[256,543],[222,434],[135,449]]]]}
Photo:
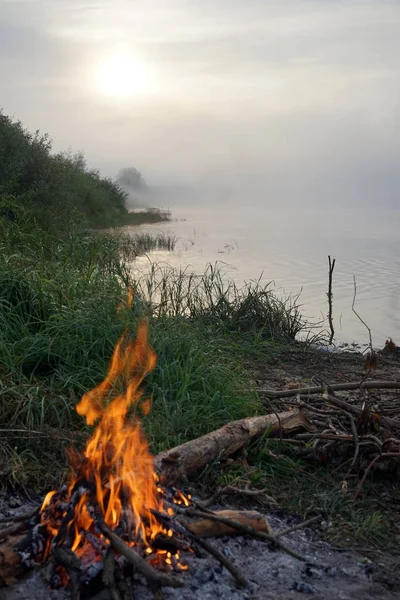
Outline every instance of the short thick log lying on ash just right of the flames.
{"type": "MultiPolygon", "coordinates": [[[[270,532],[270,527],[266,518],[254,510],[218,510],[213,514],[226,519],[232,519],[232,521],[240,523],[241,525],[248,525],[256,531],[263,531],[264,533],[270,532]]],[[[193,533],[200,538],[240,534],[237,529],[226,525],[226,523],[207,518],[192,523],[182,521],[182,524],[190,531],[190,533],[193,533]]]]}

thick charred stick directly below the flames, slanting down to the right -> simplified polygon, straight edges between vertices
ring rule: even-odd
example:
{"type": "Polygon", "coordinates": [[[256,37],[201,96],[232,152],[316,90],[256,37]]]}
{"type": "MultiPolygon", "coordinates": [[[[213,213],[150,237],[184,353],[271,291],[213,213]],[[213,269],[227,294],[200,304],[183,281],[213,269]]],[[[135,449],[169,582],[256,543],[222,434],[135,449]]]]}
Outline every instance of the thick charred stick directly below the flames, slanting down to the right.
{"type": "Polygon", "coordinates": [[[97,525],[101,533],[110,541],[114,550],[122,554],[146,579],[155,586],[161,587],[183,587],[183,582],[164,573],[158,573],[137,552],[132,550],[120,537],[104,523],[99,516],[96,517],[97,525]]]}

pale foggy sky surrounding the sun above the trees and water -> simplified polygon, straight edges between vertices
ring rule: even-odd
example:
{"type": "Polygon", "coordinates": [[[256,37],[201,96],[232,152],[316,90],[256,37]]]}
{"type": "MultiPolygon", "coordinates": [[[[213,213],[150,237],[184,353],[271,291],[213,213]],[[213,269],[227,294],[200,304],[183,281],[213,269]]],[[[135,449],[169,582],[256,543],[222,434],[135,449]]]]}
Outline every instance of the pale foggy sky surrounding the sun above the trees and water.
{"type": "Polygon", "coordinates": [[[105,175],[255,204],[397,206],[399,66],[398,0],[0,0],[6,114],[105,175]],[[93,80],[121,48],[148,70],[128,99],[93,80]]]}

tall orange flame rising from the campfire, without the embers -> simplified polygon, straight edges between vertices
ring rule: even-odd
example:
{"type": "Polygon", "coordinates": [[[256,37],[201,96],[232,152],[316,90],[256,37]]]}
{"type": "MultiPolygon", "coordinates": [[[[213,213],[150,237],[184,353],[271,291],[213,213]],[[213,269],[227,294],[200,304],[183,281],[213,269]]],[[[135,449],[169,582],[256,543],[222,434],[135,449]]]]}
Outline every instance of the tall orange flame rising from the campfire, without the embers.
{"type": "MultiPolygon", "coordinates": [[[[160,529],[151,509],[160,510],[162,506],[153,459],[140,422],[137,416],[128,420],[127,415],[132,405],[140,408],[139,386],[155,364],[156,356],[147,340],[147,324],[143,322],[136,341],[129,339],[126,333],[122,335],[106,378],[85,394],[76,407],[88,425],[99,421],[86,446],[86,460],[79,475],[94,483],[97,503],[107,525],[119,522],[124,498],[131,509],[131,525],[136,534],[141,530],[143,539],[146,539],[143,518],[150,522],[152,531],[154,527],[160,529]]],[[[149,402],[145,400],[142,405],[145,414],[149,411],[149,402]]]]}

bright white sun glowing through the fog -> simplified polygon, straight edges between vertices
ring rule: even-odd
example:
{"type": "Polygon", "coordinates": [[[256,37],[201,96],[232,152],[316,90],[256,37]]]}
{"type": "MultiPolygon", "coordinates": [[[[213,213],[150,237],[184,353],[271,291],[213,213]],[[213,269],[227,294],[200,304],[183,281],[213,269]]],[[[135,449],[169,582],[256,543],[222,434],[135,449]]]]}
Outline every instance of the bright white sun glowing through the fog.
{"type": "Polygon", "coordinates": [[[148,89],[148,71],[127,52],[107,56],[96,72],[98,90],[114,98],[131,98],[148,89]]]}

